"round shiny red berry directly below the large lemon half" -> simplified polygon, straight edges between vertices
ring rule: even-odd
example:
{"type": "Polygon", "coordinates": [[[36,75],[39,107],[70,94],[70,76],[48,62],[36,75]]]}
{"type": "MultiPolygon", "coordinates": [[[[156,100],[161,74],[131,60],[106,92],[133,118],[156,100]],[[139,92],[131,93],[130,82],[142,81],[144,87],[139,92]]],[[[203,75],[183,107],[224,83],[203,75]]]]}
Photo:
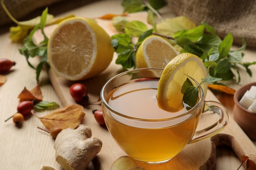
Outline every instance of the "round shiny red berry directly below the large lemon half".
{"type": "Polygon", "coordinates": [[[73,84],[70,87],[70,95],[76,102],[88,101],[87,88],[80,83],[73,84]]]}

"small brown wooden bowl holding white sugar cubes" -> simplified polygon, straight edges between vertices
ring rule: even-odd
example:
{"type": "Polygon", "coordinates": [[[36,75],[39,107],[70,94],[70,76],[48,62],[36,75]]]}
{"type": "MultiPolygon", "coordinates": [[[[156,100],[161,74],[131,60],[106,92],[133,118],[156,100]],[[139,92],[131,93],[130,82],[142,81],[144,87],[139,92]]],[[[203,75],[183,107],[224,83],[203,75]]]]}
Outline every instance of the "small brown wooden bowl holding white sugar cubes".
{"type": "Polygon", "coordinates": [[[252,113],[247,110],[239,103],[240,99],[243,97],[245,92],[251,88],[251,86],[256,86],[256,82],[245,84],[238,88],[234,94],[234,120],[243,129],[246,135],[253,140],[256,140],[256,113],[252,113]]]}

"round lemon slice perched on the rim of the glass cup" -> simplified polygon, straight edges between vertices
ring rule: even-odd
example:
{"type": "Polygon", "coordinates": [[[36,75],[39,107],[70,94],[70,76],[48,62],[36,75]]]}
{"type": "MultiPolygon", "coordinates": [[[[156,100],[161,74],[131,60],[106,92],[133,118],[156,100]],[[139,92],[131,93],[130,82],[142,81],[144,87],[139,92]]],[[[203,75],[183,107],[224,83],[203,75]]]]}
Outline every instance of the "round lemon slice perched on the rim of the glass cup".
{"type": "MultiPolygon", "coordinates": [[[[171,60],[159,79],[157,89],[157,103],[159,108],[169,112],[177,112],[183,109],[181,93],[182,85],[188,76],[198,83],[206,76],[206,68],[202,60],[191,53],[181,53],[171,60]],[[187,76],[188,75],[188,76],[187,76]]],[[[203,84],[204,93],[207,84],[203,84]]]]}

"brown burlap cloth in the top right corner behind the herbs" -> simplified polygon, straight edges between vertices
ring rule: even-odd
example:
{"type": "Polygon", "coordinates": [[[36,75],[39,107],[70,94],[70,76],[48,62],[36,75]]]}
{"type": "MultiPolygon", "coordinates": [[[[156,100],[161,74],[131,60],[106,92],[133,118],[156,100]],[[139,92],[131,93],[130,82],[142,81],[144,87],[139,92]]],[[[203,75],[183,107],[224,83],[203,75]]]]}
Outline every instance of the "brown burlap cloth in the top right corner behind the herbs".
{"type": "Polygon", "coordinates": [[[213,26],[224,38],[229,32],[234,43],[256,47],[256,0],[167,0],[176,15],[183,15],[196,24],[202,21],[213,26]]]}

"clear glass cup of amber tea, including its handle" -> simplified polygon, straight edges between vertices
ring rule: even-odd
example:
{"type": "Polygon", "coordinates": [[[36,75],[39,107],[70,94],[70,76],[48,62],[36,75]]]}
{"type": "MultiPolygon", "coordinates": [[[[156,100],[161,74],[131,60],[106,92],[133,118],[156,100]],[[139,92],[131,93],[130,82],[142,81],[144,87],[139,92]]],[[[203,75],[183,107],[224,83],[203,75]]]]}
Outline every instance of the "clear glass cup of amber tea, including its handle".
{"type": "Polygon", "coordinates": [[[201,87],[198,102],[190,110],[170,113],[158,108],[156,92],[162,71],[126,71],[101,89],[101,107],[110,134],[127,155],[144,163],[169,161],[187,144],[216,135],[229,119],[222,104],[204,100],[201,87]],[[209,111],[218,114],[218,121],[196,130],[202,113],[209,111]]]}

